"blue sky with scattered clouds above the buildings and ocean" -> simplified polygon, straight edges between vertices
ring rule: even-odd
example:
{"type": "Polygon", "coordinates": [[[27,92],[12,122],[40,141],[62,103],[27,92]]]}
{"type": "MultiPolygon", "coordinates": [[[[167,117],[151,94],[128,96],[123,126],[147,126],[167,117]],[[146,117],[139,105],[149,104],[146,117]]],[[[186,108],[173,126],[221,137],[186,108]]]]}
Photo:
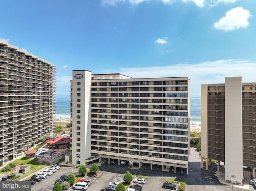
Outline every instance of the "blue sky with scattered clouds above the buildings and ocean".
{"type": "Polygon", "coordinates": [[[72,70],[200,85],[256,82],[256,0],[0,0],[0,39],[57,65],[57,96],[72,70]]]}

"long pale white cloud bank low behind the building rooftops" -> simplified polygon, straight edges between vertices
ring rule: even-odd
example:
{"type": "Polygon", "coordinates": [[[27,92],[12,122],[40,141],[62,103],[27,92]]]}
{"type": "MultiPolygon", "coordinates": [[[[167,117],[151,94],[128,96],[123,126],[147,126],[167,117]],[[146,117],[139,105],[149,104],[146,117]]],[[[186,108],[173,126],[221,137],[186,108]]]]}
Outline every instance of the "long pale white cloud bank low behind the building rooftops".
{"type": "Polygon", "coordinates": [[[256,61],[228,59],[162,67],[121,68],[108,70],[108,73],[121,73],[132,78],[188,77],[191,96],[200,96],[201,84],[224,83],[225,77],[242,76],[244,82],[255,82],[255,66],[256,61]]]}

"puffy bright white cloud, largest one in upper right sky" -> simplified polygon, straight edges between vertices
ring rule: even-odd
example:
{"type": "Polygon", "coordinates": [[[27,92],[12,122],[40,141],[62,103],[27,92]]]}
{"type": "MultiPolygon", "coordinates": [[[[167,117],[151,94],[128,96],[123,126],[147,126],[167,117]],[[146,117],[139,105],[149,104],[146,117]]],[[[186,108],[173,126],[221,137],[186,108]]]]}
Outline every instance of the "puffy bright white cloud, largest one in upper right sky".
{"type": "Polygon", "coordinates": [[[224,17],[214,23],[214,28],[224,31],[247,28],[249,26],[248,19],[251,16],[250,11],[243,9],[242,7],[232,8],[226,12],[224,17]]]}

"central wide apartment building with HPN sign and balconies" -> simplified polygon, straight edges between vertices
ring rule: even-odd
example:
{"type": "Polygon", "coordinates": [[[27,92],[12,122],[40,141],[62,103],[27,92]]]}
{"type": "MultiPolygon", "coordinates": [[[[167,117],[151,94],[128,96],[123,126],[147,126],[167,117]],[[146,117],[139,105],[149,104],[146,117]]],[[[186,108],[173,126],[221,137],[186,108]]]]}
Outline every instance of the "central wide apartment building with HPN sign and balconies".
{"type": "Polygon", "coordinates": [[[73,71],[72,164],[114,159],[166,171],[181,167],[186,173],[189,87],[188,77],[132,79],[73,71]]]}

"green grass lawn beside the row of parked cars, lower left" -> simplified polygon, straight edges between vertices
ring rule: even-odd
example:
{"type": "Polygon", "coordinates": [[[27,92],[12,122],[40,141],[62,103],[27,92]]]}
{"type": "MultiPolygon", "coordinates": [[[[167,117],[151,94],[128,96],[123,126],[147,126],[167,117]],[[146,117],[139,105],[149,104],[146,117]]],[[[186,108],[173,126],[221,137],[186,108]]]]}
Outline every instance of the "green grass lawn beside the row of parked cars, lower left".
{"type": "MultiPolygon", "coordinates": [[[[44,167],[47,164],[47,162],[45,162],[45,161],[38,163],[37,159],[26,159],[25,156],[20,159],[16,159],[13,162],[15,162],[17,164],[17,166],[20,163],[24,163],[24,165],[30,166],[30,171],[28,173],[33,173],[34,171],[41,169],[42,167],[44,167]]],[[[1,174],[10,174],[13,172],[14,171],[2,172],[2,168],[0,169],[1,174]]]]}

